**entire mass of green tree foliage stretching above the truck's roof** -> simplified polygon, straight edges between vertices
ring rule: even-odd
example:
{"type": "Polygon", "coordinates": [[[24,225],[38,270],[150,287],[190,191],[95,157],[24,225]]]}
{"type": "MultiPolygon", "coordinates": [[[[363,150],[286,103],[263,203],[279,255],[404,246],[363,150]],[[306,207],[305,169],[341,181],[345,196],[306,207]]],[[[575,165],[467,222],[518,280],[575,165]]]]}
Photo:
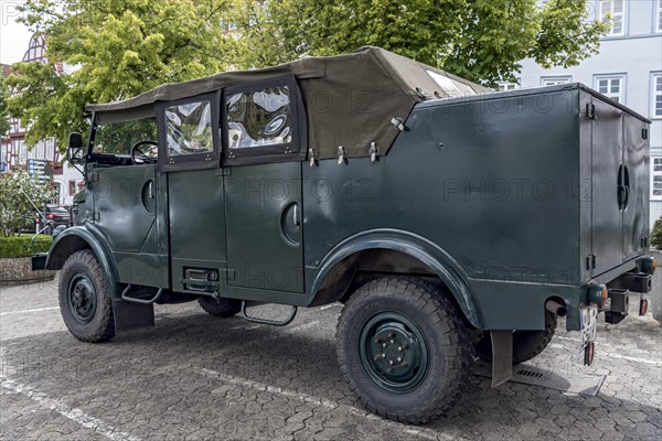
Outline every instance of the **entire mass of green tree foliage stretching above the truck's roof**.
{"type": "Polygon", "coordinates": [[[49,63],[17,63],[6,85],[26,142],[85,133],[87,103],[163,83],[306,55],[378,45],[488,86],[520,61],[573,66],[598,50],[608,24],[580,0],[26,0],[24,23],[49,35],[49,63]],[[237,32],[225,34],[223,23],[237,32]],[[64,74],[56,73],[64,62],[64,74]]]}

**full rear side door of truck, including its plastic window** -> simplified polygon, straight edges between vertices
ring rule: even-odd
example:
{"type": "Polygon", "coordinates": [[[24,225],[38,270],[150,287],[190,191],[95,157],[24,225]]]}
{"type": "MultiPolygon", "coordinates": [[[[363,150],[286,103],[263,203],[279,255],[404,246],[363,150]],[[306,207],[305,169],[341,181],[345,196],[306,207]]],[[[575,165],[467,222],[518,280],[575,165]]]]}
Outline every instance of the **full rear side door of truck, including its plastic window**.
{"type": "Polygon", "coordinates": [[[282,77],[227,88],[222,109],[228,284],[305,292],[298,85],[282,77]]]}

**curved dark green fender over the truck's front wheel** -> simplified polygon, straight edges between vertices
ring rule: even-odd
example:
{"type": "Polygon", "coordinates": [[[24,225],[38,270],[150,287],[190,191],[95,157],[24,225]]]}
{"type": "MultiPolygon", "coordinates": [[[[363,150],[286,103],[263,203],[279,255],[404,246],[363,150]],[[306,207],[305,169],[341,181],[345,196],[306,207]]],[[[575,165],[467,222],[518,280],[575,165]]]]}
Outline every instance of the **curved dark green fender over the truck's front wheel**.
{"type": "Polygon", "coordinates": [[[86,227],[74,226],[66,228],[53,241],[46,259],[46,269],[62,269],[66,259],[82,249],[92,249],[102,267],[106,270],[106,286],[108,293],[119,298],[120,292],[116,281],[118,280],[117,266],[110,252],[110,246],[104,238],[95,235],[86,227]]]}

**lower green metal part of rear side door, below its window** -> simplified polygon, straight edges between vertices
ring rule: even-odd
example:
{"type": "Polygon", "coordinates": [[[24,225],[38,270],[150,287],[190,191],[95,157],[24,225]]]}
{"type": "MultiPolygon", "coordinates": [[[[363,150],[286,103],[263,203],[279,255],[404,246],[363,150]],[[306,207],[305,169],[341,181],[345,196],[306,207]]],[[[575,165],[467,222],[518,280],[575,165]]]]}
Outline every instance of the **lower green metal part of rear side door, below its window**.
{"type": "Polygon", "coordinates": [[[303,292],[300,162],[232,168],[225,215],[231,287],[303,292]]]}

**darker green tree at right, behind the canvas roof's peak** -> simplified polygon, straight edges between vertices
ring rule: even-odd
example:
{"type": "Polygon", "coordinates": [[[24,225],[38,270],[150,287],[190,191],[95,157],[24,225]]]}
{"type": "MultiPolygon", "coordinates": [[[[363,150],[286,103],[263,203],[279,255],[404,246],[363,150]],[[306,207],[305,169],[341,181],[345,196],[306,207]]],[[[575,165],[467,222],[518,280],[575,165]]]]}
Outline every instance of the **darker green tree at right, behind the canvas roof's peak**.
{"type": "Polygon", "coordinates": [[[608,24],[581,0],[236,0],[242,67],[378,45],[494,86],[520,61],[568,67],[596,53],[608,24]],[[268,10],[265,10],[268,9],[268,10]]]}

